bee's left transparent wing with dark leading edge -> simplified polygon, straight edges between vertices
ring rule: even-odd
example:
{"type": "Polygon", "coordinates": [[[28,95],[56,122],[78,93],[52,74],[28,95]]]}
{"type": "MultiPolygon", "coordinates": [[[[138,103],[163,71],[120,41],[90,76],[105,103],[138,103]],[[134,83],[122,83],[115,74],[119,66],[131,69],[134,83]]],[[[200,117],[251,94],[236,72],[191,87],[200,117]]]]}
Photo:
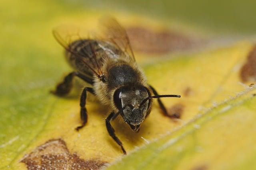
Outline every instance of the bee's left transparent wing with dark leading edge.
{"type": "MultiPolygon", "coordinates": [[[[96,60],[96,54],[94,53],[94,48],[90,44],[90,41],[84,42],[82,46],[88,46],[91,48],[92,54],[88,54],[86,51],[76,51],[74,48],[72,48],[72,43],[77,40],[85,40],[89,39],[89,34],[86,35],[82,32],[83,30],[79,27],[75,26],[69,26],[69,25],[62,25],[59,27],[56,27],[52,33],[55,37],[55,39],[58,41],[66,51],[74,55],[77,59],[81,60],[82,63],[84,63],[85,66],[87,66],[92,72],[96,74],[100,78],[100,75],[102,74],[102,70],[97,63],[96,60]],[[92,56],[90,56],[92,55],[92,56]],[[90,64],[86,62],[86,59],[90,59],[90,64]]],[[[82,42],[82,41],[81,41],[82,42]]]]}

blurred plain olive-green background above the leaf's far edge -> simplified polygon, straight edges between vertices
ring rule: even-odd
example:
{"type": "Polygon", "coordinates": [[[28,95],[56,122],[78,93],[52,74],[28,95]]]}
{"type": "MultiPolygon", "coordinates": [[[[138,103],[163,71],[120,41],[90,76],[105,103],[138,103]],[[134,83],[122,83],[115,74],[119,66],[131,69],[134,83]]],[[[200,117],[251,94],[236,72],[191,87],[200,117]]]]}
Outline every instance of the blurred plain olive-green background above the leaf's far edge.
{"type": "Polygon", "coordinates": [[[152,18],[176,20],[218,33],[253,34],[256,31],[255,0],[66,0],[91,10],[134,12],[152,18]]]}

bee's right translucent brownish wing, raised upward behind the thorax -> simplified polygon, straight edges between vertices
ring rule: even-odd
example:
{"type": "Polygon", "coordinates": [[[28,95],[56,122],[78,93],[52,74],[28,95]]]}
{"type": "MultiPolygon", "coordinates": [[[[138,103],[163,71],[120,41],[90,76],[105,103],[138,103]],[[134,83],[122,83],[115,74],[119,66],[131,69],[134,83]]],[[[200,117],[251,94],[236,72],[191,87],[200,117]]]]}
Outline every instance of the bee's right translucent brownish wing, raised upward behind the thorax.
{"type": "Polygon", "coordinates": [[[134,61],[134,53],[130,44],[129,37],[126,30],[116,21],[115,18],[106,17],[100,20],[100,29],[103,40],[113,43],[120,49],[129,55],[134,61]]]}

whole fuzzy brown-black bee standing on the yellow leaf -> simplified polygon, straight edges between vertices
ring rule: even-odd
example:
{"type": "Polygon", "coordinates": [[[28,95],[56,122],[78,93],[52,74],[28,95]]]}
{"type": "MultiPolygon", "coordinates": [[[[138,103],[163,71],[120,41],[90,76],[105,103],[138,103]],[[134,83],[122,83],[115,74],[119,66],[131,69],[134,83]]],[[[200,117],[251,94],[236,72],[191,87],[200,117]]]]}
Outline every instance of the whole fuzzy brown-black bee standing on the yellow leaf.
{"type": "Polygon", "coordinates": [[[110,124],[118,115],[130,128],[138,132],[144,119],[150,114],[152,98],[158,99],[158,104],[164,115],[174,117],[167,113],[166,107],[160,100],[163,97],[178,97],[180,95],[159,95],[148,85],[146,76],[135,61],[126,30],[114,18],[104,18],[100,22],[102,35],[100,38],[81,38],[69,41],[68,33],[62,35],[54,29],[53,35],[64,47],[65,57],[74,69],[56,86],[54,94],[64,96],[72,88],[72,80],[76,76],[91,87],[84,87],[80,97],[80,117],[82,125],[76,127],[79,131],[86,125],[88,113],[86,110],[87,93],[95,95],[102,105],[107,105],[112,112],[105,119],[106,129],[114,141],[121,147],[122,142],[115,134],[110,124]]]}

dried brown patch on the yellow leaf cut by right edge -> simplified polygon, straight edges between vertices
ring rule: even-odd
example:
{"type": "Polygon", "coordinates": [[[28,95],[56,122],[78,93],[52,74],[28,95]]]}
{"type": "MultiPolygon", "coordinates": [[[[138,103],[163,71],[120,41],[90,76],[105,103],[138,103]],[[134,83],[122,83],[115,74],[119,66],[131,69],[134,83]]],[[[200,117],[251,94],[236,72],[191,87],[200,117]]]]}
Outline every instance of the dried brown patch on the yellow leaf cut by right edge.
{"type": "Polygon", "coordinates": [[[250,51],[247,57],[247,62],[240,70],[240,78],[243,82],[256,81],[256,45],[252,51],[250,51]]]}

